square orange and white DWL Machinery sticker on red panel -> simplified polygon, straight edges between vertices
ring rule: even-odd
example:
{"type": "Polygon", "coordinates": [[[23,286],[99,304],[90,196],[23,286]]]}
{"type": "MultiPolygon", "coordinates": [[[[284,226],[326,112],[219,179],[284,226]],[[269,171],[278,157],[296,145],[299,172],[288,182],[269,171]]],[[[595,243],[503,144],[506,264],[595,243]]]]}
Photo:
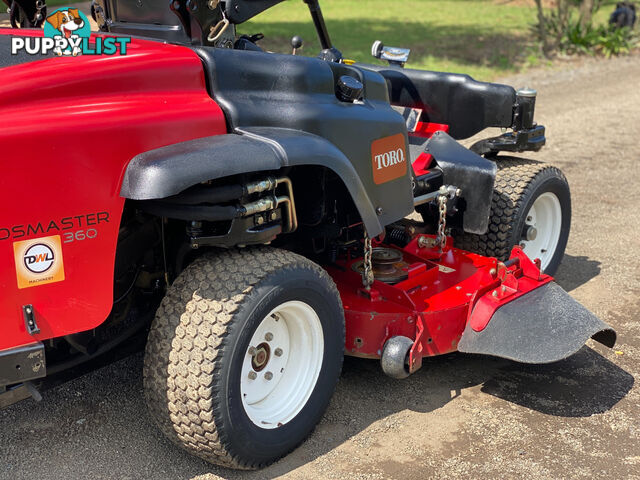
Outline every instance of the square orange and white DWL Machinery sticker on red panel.
{"type": "Polygon", "coordinates": [[[13,243],[18,288],[64,280],[60,235],[13,243]]]}

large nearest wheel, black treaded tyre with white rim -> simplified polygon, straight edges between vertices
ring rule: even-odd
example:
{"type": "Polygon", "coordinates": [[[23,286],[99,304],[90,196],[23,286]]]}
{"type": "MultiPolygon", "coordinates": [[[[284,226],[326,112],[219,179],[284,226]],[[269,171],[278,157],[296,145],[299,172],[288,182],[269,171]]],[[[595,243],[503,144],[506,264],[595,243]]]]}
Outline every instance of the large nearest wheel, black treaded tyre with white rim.
{"type": "Polygon", "coordinates": [[[207,255],[158,309],[145,354],[147,404],[190,453],[264,467],[320,420],[343,350],[342,304],[319,266],[269,248],[207,255]]]}

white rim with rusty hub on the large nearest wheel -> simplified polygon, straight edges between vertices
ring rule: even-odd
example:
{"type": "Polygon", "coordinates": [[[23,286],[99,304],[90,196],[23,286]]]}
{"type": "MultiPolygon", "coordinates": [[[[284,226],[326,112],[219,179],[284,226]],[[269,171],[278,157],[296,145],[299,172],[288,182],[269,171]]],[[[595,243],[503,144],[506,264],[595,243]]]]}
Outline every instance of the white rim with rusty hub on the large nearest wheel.
{"type": "Polygon", "coordinates": [[[265,429],[291,421],[316,386],[323,356],[322,324],[313,308],[297,300],[274,308],[242,363],[240,394],[249,419],[265,429]]]}

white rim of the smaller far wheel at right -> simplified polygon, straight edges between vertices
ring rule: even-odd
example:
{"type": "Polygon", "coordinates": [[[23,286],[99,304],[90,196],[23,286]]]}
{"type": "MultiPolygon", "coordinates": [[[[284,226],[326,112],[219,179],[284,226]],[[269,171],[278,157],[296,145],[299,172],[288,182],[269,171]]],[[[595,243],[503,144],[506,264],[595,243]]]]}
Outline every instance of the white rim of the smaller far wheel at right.
{"type": "Polygon", "coordinates": [[[562,229],[562,207],[560,200],[551,192],[540,195],[527,213],[524,238],[521,241],[524,253],[531,259],[540,259],[540,266],[544,271],[551,263],[556,253],[560,230],[562,229]],[[534,228],[534,239],[526,238],[527,231],[534,228]]]}

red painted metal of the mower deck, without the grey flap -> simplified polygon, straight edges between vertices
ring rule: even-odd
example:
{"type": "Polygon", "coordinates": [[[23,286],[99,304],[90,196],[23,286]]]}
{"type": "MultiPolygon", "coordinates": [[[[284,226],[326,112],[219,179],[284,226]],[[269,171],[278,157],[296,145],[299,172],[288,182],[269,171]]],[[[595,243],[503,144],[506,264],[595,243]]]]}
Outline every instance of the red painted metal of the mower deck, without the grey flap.
{"type": "Polygon", "coordinates": [[[552,280],[518,247],[512,253],[518,264],[510,267],[453,248],[450,238],[442,254],[420,248],[417,237],[404,249],[387,247],[402,250],[409,264],[408,278],[395,285],[375,281],[369,292],[364,290],[360,274],[351,268],[359,259],[326,268],[344,305],[346,353],[379,358],[390,337],[403,335],[414,340],[411,371],[420,368],[422,357],[456,351],[467,322],[486,326],[497,308],[552,280]],[[498,298],[492,295],[495,289],[498,298]]]}

